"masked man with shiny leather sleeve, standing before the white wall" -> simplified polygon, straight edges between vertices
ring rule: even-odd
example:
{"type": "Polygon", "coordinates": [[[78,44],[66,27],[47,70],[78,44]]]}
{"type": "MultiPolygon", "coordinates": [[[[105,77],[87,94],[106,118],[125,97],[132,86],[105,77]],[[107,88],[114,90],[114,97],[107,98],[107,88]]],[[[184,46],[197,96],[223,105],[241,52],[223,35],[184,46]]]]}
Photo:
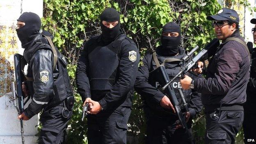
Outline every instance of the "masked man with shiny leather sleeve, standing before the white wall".
{"type": "Polygon", "coordinates": [[[25,12],[17,21],[17,35],[25,49],[23,60],[28,64],[23,92],[32,96],[31,103],[18,118],[28,120],[43,110],[39,144],[64,144],[74,102],[66,60],[53,46],[53,36],[46,31],[44,34],[51,38],[39,32],[41,20],[37,14],[25,12]]]}

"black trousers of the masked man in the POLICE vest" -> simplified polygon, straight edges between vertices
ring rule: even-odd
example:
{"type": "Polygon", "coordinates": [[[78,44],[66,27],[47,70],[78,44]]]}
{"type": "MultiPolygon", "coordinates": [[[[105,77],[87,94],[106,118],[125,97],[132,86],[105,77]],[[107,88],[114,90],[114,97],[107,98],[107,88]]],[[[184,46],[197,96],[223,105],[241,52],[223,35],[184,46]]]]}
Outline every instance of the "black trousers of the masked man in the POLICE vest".
{"type": "Polygon", "coordinates": [[[191,144],[191,124],[188,121],[188,131],[183,128],[176,129],[176,115],[155,114],[149,107],[144,107],[146,114],[146,143],[145,144],[191,144]]]}

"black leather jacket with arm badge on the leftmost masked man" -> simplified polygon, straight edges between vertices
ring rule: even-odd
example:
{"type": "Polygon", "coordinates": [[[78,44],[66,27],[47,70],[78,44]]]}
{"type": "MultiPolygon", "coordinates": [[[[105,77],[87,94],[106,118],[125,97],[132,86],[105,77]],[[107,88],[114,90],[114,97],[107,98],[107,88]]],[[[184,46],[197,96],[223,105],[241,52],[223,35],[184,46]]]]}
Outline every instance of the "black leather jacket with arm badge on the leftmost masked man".
{"type": "Polygon", "coordinates": [[[57,68],[53,70],[53,53],[50,46],[46,44],[43,48],[38,49],[37,41],[45,42],[47,40],[39,34],[23,53],[28,63],[27,76],[34,79],[33,82],[27,82],[32,96],[31,103],[25,109],[25,115],[29,118],[38,114],[43,106],[49,103],[50,98],[54,95],[54,77],[58,75],[57,68]]]}

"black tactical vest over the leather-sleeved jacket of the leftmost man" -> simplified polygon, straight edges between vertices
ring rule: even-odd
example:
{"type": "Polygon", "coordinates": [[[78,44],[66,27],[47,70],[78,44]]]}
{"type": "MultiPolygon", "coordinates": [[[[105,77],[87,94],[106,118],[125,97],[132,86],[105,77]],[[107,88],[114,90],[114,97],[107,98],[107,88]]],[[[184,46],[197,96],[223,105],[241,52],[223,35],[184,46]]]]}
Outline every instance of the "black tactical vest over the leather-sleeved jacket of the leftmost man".
{"type": "MultiPolygon", "coordinates": [[[[27,67],[27,80],[28,80],[28,87],[30,91],[30,95],[33,96],[34,94],[34,88],[33,88],[33,73],[32,73],[32,64],[30,64],[30,60],[33,57],[34,53],[37,52],[37,50],[50,50],[53,55],[53,49],[49,46],[48,40],[43,35],[39,34],[34,41],[32,42],[31,46],[28,50],[24,51],[23,57],[25,61],[28,64],[27,67]]],[[[50,101],[48,105],[56,105],[60,102],[62,102],[65,98],[73,96],[73,89],[70,83],[69,74],[67,71],[67,62],[65,57],[59,53],[58,49],[55,48],[57,52],[57,63],[56,66],[53,68],[53,91],[54,96],[50,97],[50,101]]],[[[23,64],[24,65],[24,64],[23,64]]]]}

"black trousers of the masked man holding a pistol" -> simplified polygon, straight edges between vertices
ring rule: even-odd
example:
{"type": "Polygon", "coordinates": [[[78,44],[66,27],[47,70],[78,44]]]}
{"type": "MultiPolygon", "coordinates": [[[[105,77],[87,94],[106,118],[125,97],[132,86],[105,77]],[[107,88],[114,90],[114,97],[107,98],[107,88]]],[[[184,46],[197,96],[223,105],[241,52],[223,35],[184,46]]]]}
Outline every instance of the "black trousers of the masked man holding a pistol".
{"type": "Polygon", "coordinates": [[[131,107],[117,107],[87,116],[88,144],[126,144],[131,107]]]}

